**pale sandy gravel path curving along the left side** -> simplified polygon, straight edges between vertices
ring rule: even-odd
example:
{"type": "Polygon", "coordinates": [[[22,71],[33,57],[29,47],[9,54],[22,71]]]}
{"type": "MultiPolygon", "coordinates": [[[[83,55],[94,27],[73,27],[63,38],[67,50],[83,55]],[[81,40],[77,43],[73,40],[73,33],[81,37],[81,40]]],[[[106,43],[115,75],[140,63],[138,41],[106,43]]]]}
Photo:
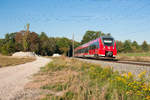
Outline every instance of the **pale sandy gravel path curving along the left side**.
{"type": "Polygon", "coordinates": [[[50,61],[48,58],[37,57],[36,61],[30,63],[0,68],[0,100],[14,100],[31,76],[50,61]]]}

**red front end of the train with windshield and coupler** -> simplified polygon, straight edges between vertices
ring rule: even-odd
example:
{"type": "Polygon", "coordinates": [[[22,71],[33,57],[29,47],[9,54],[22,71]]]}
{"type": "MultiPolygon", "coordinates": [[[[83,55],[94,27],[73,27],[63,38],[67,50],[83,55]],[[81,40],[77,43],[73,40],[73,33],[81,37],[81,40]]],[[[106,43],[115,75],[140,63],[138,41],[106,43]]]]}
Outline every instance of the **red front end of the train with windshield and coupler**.
{"type": "Polygon", "coordinates": [[[115,58],[117,55],[116,42],[111,36],[103,36],[100,38],[100,52],[103,57],[115,58]]]}

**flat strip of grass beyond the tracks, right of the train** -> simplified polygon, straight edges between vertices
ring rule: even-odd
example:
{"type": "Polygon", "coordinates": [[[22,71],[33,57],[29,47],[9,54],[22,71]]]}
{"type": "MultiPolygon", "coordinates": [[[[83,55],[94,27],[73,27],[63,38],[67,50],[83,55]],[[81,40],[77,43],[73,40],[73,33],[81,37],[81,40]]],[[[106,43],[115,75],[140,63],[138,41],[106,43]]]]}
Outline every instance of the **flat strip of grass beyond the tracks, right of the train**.
{"type": "Polygon", "coordinates": [[[119,53],[119,60],[131,60],[131,61],[150,61],[150,52],[142,53],[119,53]]]}

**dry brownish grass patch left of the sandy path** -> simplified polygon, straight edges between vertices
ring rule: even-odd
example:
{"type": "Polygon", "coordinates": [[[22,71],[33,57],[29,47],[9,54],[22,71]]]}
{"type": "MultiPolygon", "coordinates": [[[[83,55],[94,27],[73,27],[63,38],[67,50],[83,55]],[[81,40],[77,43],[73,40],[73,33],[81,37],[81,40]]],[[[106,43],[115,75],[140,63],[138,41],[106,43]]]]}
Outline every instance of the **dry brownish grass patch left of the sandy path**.
{"type": "Polygon", "coordinates": [[[34,61],[35,58],[14,58],[11,56],[0,55],[0,67],[14,66],[34,61]]]}

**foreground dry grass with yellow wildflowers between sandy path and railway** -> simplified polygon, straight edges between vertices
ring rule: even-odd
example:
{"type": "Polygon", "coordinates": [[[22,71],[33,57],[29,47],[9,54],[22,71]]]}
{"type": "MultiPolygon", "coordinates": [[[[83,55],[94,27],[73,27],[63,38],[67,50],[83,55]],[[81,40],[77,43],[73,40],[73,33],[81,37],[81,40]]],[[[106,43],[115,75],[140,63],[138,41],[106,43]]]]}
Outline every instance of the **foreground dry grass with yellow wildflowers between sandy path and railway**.
{"type": "Polygon", "coordinates": [[[26,88],[41,89],[41,100],[149,100],[145,73],[135,80],[132,73],[61,57],[41,68],[26,88]]]}

